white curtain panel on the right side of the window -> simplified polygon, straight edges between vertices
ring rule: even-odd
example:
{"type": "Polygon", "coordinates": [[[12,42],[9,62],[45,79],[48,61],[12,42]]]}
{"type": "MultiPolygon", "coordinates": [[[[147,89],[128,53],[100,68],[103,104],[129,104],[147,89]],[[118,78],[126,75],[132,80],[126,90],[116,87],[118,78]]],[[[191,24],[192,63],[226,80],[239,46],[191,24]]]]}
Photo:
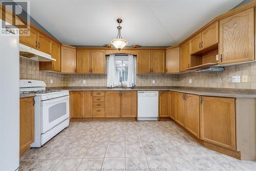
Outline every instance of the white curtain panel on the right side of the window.
{"type": "Polygon", "coordinates": [[[128,77],[127,77],[127,87],[134,87],[136,84],[136,74],[135,74],[135,61],[134,56],[128,55],[128,77]]]}

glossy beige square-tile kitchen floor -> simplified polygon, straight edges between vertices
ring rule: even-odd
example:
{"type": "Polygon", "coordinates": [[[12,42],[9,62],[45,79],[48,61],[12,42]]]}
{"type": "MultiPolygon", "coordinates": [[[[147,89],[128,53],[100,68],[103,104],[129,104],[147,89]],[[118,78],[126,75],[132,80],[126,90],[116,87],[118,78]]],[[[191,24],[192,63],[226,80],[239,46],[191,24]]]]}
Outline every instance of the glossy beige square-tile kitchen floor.
{"type": "Polygon", "coordinates": [[[204,148],[172,121],[83,121],[20,157],[19,170],[256,170],[204,148]]]}

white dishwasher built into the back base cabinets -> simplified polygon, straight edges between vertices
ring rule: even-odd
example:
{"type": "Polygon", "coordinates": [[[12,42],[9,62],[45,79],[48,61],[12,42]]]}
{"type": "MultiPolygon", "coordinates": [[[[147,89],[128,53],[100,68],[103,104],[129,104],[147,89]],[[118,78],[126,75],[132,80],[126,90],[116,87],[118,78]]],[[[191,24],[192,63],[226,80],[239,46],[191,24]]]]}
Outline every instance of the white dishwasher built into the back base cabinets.
{"type": "Polygon", "coordinates": [[[138,91],[137,120],[158,120],[158,91],[138,91]]]}

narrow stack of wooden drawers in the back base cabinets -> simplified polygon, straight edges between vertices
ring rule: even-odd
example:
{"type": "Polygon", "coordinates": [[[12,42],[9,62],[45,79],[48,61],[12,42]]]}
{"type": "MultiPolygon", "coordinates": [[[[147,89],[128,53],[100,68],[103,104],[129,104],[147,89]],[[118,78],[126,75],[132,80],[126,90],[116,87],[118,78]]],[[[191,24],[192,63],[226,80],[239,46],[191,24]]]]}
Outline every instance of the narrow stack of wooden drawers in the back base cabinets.
{"type": "Polygon", "coordinates": [[[93,117],[105,117],[104,91],[93,91],[93,117]]]}

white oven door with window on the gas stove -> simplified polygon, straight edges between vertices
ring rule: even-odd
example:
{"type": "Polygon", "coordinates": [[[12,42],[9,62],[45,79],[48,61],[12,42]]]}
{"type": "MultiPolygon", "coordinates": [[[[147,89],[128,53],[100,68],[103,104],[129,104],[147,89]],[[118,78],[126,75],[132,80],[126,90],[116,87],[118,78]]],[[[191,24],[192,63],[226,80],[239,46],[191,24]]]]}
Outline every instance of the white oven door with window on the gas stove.
{"type": "Polygon", "coordinates": [[[69,118],[69,96],[41,101],[41,134],[69,118]]]}

